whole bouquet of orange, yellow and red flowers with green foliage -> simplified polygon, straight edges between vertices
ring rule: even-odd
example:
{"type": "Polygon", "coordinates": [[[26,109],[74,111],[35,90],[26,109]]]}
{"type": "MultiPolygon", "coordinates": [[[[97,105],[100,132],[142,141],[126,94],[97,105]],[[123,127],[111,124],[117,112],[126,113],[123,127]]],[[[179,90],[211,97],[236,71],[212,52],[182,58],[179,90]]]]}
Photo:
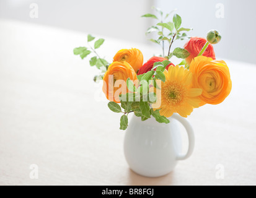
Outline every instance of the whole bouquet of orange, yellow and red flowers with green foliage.
{"type": "Polygon", "coordinates": [[[221,40],[217,30],[208,32],[206,38],[189,37],[192,28],[183,28],[182,18],[156,9],[159,16],[145,14],[157,20],[146,33],[157,32],[159,38],[152,42],[162,47],[162,54],[154,56],[143,64],[143,53],[139,49],[121,49],[108,63],[100,58],[97,49],[104,43],[87,36],[87,47],[74,49],[74,54],[82,59],[89,54],[90,66],[101,72],[94,77],[95,82],[103,80],[103,92],[110,101],[108,107],[115,113],[121,113],[120,129],[128,127],[128,114],[134,113],[142,121],[154,117],[159,123],[169,123],[174,113],[187,118],[194,108],[211,104],[218,105],[231,92],[232,82],[226,62],[216,60],[213,45],[221,40]],[[188,39],[183,48],[172,50],[177,40],[188,39]],[[167,50],[165,49],[168,43],[167,50]],[[173,57],[180,60],[172,62],[173,57]]]}

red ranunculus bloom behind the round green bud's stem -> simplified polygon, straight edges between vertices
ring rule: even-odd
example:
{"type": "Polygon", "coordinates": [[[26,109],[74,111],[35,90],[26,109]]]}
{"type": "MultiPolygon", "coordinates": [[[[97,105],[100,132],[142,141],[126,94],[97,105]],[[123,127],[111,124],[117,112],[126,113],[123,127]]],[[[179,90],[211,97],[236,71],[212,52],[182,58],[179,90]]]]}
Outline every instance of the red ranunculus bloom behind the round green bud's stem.
{"type": "MultiPolygon", "coordinates": [[[[205,43],[207,40],[205,38],[200,38],[200,37],[192,37],[190,40],[185,44],[184,48],[187,49],[187,51],[190,53],[190,56],[186,58],[186,62],[190,64],[190,62],[198,56],[200,53],[201,49],[203,49],[203,46],[205,46],[205,43]]],[[[215,58],[215,53],[213,49],[213,45],[209,45],[208,48],[205,50],[205,53],[203,53],[203,56],[210,57],[212,59],[215,58]]]]}

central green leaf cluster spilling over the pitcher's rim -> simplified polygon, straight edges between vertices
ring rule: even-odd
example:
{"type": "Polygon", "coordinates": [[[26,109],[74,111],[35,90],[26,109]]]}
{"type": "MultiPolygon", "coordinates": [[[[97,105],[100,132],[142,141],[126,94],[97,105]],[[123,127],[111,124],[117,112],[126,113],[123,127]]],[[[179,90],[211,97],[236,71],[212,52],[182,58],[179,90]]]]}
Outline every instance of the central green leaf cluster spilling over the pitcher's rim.
{"type": "Polygon", "coordinates": [[[108,108],[115,113],[122,113],[120,119],[120,129],[125,130],[128,127],[128,114],[134,113],[135,116],[140,117],[141,121],[146,121],[153,116],[159,123],[170,123],[169,119],[160,115],[160,110],[154,111],[150,104],[156,102],[156,93],[149,92],[149,85],[157,87],[156,80],[166,81],[164,70],[166,66],[170,64],[170,61],[155,62],[151,71],[146,74],[138,75],[139,85],[138,87],[127,79],[126,85],[130,93],[120,95],[120,105],[110,101],[108,108]],[[155,71],[156,70],[156,71],[155,71]]]}

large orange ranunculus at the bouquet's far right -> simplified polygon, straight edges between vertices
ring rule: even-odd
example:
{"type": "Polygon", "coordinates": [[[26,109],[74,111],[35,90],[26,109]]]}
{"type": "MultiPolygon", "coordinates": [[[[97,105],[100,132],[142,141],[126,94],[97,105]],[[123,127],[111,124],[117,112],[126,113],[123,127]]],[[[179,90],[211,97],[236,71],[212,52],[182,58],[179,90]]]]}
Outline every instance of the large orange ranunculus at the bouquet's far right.
{"type": "Polygon", "coordinates": [[[231,92],[232,82],[226,62],[198,56],[192,60],[189,70],[193,73],[193,87],[203,89],[200,106],[206,103],[218,105],[231,92]]]}

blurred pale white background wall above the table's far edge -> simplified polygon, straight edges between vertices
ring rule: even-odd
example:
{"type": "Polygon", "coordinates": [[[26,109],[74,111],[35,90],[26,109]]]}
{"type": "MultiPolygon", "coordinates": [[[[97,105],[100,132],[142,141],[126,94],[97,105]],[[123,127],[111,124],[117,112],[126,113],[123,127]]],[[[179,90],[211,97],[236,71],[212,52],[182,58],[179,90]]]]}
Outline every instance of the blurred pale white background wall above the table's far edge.
{"type": "Polygon", "coordinates": [[[156,21],[140,16],[152,12],[151,6],[161,7],[164,12],[177,8],[183,27],[194,28],[192,36],[206,37],[208,30],[218,29],[223,36],[214,46],[218,58],[255,63],[254,0],[1,0],[0,17],[149,43],[144,32],[156,21]],[[39,6],[38,19],[29,16],[32,2],[39,6]],[[224,18],[216,17],[219,3],[224,6],[224,18]]]}

